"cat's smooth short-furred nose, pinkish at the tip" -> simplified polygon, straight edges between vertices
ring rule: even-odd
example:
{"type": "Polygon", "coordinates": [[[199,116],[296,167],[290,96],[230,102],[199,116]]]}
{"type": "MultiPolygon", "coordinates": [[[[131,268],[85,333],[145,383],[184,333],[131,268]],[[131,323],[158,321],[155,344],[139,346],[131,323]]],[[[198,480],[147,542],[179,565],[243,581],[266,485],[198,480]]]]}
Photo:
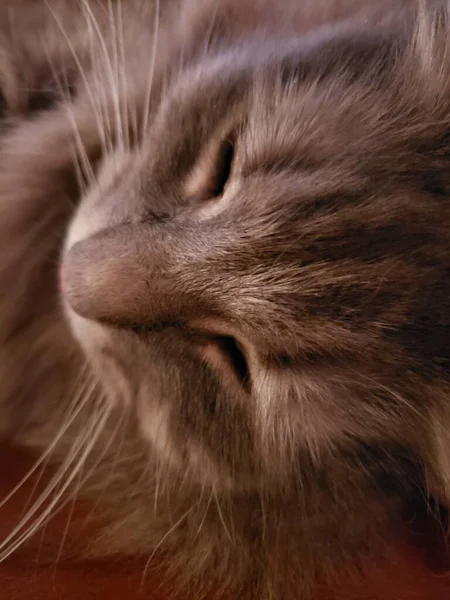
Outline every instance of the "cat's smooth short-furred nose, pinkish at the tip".
{"type": "Polygon", "coordinates": [[[120,326],[189,318],[199,297],[186,282],[187,254],[179,237],[154,227],[107,230],[69,250],[61,291],[79,315],[120,326]]]}

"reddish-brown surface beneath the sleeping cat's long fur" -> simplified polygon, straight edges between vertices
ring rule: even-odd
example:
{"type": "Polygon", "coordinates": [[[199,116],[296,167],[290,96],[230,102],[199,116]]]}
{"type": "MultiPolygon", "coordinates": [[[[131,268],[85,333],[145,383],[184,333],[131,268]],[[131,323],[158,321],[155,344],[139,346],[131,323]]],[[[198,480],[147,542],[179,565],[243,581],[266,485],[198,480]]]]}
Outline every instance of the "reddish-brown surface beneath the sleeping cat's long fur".
{"type": "MultiPolygon", "coordinates": [[[[3,448],[0,452],[0,497],[6,496],[29,465],[26,455],[3,448]]],[[[33,489],[31,480],[0,508],[0,539],[4,539],[18,523],[33,489]]],[[[2,600],[168,598],[162,579],[154,573],[147,575],[142,588],[145,560],[80,563],[59,556],[63,540],[63,547],[69,550],[83,544],[88,535],[87,529],[83,530],[80,524],[85,522],[89,507],[77,503],[73,511],[71,508],[68,506],[26,547],[0,564],[2,600]],[[69,521],[72,526],[67,530],[69,521]]],[[[408,541],[393,548],[389,558],[370,565],[363,582],[343,582],[339,591],[333,593],[322,590],[320,600],[450,600],[450,576],[442,568],[438,569],[438,563],[445,562],[447,557],[443,548],[436,551],[431,527],[428,526],[426,535],[416,532],[405,538],[408,541]]]]}

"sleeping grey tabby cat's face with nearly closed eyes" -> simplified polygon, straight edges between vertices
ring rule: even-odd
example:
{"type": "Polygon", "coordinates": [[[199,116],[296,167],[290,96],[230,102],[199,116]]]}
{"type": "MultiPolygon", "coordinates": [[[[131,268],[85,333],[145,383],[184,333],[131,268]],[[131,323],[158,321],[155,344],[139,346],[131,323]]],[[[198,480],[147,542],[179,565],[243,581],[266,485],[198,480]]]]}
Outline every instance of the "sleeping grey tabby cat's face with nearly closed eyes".
{"type": "Polygon", "coordinates": [[[232,489],[414,447],[449,358],[446,182],[410,144],[398,48],[284,43],[179,75],[143,144],[101,164],[63,256],[110,397],[168,464],[232,489]]]}

